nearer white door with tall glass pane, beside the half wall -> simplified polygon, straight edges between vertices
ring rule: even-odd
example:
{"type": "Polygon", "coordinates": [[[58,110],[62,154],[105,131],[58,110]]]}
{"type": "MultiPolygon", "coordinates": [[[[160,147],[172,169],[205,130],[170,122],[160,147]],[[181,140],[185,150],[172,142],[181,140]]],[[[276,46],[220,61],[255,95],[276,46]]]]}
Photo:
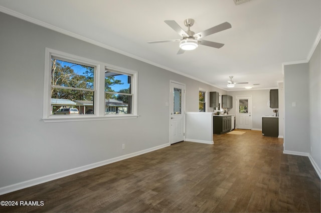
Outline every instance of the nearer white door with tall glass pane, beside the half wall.
{"type": "Polygon", "coordinates": [[[170,109],[170,141],[172,143],[184,140],[185,136],[185,85],[171,81],[170,109]]]}

